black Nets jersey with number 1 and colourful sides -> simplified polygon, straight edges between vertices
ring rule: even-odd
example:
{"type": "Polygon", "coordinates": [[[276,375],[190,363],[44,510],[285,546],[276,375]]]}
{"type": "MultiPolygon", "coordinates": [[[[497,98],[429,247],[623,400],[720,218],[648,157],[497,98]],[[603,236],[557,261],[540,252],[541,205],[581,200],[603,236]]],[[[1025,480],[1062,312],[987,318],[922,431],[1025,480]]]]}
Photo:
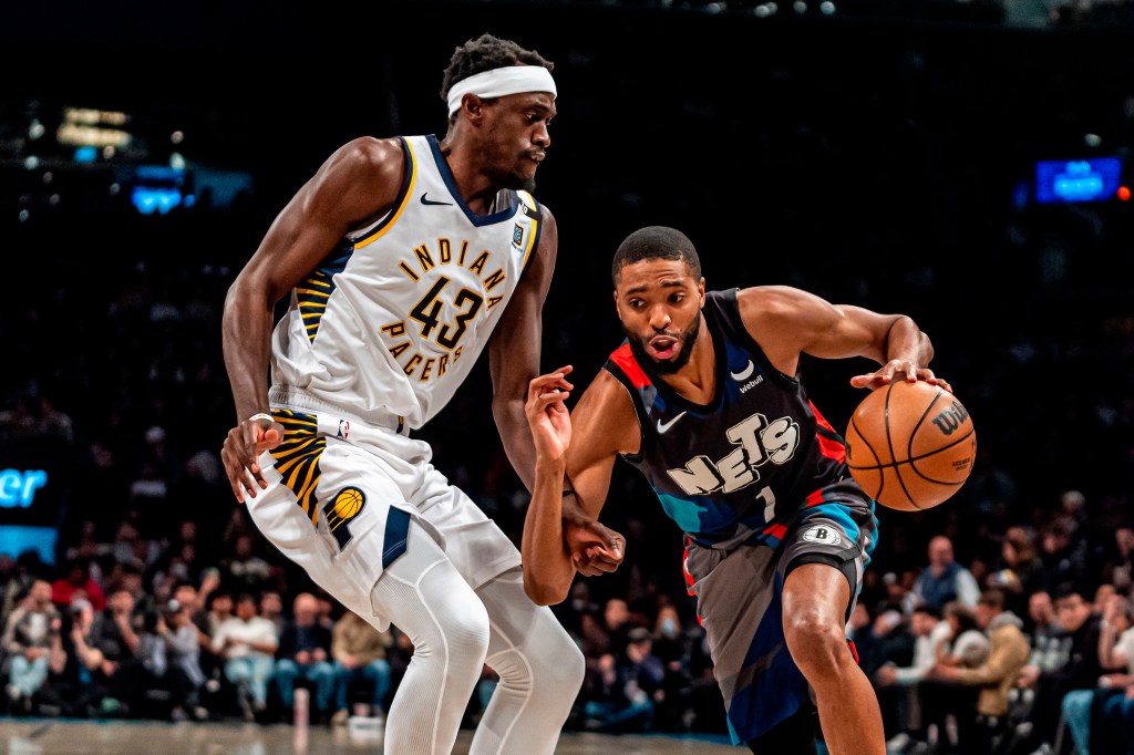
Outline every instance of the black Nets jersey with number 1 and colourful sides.
{"type": "Polygon", "coordinates": [[[603,365],[629,391],[642,446],[624,459],[653,486],[666,514],[706,548],[775,544],[784,523],[846,486],[843,438],[797,378],[764,356],[741,321],[737,289],[710,291],[704,317],[717,355],[712,402],[685,400],[624,342],[603,365]]]}

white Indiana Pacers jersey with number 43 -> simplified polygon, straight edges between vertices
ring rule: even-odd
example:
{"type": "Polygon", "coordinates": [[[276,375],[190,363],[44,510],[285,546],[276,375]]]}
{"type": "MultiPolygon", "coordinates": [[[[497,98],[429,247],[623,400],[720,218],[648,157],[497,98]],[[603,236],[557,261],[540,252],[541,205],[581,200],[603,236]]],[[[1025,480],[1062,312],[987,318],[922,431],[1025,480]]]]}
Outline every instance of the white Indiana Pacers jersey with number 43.
{"type": "Polygon", "coordinates": [[[473,213],[433,135],[400,137],[401,192],[291,291],[272,340],[273,404],[421,427],[452,398],[539,243],[540,206],[502,190],[473,213]]]}

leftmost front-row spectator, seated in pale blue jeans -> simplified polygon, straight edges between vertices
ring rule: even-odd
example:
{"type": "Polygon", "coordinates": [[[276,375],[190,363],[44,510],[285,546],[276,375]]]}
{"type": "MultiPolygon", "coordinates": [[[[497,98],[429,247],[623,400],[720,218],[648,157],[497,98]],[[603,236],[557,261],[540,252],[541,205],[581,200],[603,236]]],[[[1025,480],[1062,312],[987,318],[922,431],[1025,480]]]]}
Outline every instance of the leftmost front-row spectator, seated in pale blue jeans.
{"type": "Polygon", "coordinates": [[[3,645],[8,654],[8,699],[23,713],[32,710],[34,695],[48,678],[48,653],[59,634],[59,611],[51,602],[51,583],[36,579],[26,599],[9,614],[3,645]]]}

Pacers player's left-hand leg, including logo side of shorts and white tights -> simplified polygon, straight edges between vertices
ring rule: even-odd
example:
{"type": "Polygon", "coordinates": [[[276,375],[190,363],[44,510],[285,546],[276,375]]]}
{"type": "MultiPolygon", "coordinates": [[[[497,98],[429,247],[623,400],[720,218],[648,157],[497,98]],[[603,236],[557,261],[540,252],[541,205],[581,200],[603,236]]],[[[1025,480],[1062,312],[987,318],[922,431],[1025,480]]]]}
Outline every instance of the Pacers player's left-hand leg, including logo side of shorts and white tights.
{"type": "Polygon", "coordinates": [[[348,443],[327,434],[338,425],[333,418],[289,413],[284,419],[285,442],[261,457],[269,486],[247,502],[249,515],[336,600],[380,629],[397,625],[413,643],[384,752],[451,752],[483,668],[489,621],[407,503],[423,470],[413,455],[428,447],[361,425],[348,443]]]}

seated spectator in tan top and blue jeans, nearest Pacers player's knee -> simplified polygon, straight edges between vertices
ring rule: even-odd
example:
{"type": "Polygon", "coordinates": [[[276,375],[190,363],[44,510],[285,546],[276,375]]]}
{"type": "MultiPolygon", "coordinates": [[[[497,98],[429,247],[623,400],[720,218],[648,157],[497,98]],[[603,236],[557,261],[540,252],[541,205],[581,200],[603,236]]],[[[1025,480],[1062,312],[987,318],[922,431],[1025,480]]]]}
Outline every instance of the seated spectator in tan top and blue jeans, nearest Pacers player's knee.
{"type": "Polygon", "coordinates": [[[335,714],[331,723],[346,723],[350,686],[364,681],[366,704],[378,718],[386,718],[386,696],[390,692],[390,664],[386,652],[393,645],[389,629],[379,631],[350,610],[342,612],[331,629],[331,658],[335,659],[335,714]]]}

